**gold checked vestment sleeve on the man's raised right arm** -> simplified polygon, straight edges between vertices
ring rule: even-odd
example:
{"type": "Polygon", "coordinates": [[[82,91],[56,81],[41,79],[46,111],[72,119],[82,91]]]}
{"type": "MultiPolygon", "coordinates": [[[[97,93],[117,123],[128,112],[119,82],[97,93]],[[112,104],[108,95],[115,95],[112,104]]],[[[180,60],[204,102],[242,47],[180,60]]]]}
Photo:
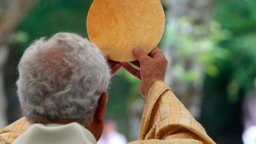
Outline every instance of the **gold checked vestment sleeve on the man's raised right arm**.
{"type": "Polygon", "coordinates": [[[138,141],[129,144],[214,144],[164,82],[149,89],[138,141]]]}

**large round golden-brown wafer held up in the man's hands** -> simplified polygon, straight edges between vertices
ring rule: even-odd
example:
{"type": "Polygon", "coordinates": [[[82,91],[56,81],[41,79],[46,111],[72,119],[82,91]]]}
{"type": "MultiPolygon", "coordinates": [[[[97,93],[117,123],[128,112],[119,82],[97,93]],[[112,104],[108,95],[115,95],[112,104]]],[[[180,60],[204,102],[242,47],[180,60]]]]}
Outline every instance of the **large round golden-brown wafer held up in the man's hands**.
{"type": "Polygon", "coordinates": [[[150,53],[164,29],[160,0],[94,0],[87,16],[90,41],[107,52],[110,60],[136,60],[134,47],[150,53]]]}

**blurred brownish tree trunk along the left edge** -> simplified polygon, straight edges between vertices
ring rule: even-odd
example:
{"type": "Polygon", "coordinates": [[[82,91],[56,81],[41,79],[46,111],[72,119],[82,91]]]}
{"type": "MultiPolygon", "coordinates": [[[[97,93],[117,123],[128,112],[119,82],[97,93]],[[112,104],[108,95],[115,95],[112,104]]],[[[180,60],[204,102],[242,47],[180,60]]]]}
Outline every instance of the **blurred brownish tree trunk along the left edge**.
{"type": "Polygon", "coordinates": [[[3,66],[9,54],[9,43],[20,20],[35,2],[35,0],[0,1],[0,128],[7,123],[3,66]]]}

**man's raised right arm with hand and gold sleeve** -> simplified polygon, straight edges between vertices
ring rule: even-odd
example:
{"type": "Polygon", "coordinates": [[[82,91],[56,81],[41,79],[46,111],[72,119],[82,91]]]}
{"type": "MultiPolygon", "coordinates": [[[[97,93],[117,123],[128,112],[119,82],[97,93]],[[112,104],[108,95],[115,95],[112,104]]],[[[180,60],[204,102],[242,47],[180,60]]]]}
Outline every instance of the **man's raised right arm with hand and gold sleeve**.
{"type": "Polygon", "coordinates": [[[167,61],[160,49],[154,49],[150,56],[142,49],[134,49],[133,53],[138,61],[132,63],[140,71],[127,63],[122,66],[142,80],[140,91],[146,103],[139,141],[130,144],[215,143],[163,82],[167,61]]]}

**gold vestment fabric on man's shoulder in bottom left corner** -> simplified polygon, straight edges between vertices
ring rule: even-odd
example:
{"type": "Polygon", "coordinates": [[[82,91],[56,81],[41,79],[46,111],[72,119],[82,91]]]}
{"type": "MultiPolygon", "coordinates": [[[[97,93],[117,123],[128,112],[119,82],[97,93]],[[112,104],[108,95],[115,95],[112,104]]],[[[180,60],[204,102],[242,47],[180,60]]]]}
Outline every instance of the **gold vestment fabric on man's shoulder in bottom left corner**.
{"type": "Polygon", "coordinates": [[[0,144],[10,144],[29,127],[25,117],[18,119],[13,124],[0,130],[0,144]]]}

